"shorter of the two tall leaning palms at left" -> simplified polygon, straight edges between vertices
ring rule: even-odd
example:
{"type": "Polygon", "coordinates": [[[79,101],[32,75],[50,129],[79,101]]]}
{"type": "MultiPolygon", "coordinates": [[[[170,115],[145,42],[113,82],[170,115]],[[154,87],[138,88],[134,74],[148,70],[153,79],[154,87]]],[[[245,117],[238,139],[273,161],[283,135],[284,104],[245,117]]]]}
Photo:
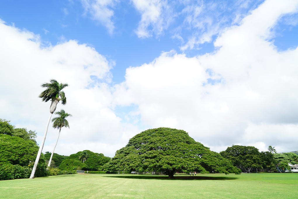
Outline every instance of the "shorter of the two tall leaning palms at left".
{"type": "Polygon", "coordinates": [[[69,128],[68,121],[65,118],[68,117],[68,116],[72,116],[71,114],[65,113],[65,111],[63,109],[56,112],[55,114],[59,115],[59,117],[55,117],[55,118],[52,119],[52,122],[54,122],[53,127],[54,128],[59,128],[59,133],[58,133],[58,138],[57,138],[56,144],[54,146],[54,149],[52,150],[52,154],[51,154],[51,158],[49,160],[48,167],[51,164],[52,157],[53,157],[53,154],[54,154],[54,151],[55,151],[55,148],[57,146],[57,142],[58,142],[58,139],[59,139],[59,136],[60,136],[61,128],[62,127],[68,127],[69,128]]]}

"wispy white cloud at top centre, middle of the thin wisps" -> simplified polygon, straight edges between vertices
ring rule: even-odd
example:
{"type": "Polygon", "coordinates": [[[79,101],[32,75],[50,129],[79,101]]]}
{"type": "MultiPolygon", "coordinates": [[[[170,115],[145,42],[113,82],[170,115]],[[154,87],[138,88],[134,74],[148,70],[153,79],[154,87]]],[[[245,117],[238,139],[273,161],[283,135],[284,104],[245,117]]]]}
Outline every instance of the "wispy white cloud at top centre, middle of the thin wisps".
{"type": "Polygon", "coordinates": [[[139,38],[152,37],[161,35],[164,29],[167,29],[175,13],[168,5],[167,0],[131,0],[136,10],[141,14],[136,35],[139,38]]]}

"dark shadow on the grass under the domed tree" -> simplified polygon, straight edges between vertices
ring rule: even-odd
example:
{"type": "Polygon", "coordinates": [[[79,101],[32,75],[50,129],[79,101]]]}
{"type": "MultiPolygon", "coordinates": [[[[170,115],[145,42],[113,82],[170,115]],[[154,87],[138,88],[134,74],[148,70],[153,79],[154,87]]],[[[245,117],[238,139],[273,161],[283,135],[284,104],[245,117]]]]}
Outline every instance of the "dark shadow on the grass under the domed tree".
{"type": "Polygon", "coordinates": [[[103,176],[108,178],[128,178],[128,179],[147,179],[147,180],[236,180],[238,178],[235,177],[227,177],[227,176],[175,176],[174,179],[168,178],[167,175],[165,176],[158,176],[158,175],[120,175],[120,176],[103,176]]]}

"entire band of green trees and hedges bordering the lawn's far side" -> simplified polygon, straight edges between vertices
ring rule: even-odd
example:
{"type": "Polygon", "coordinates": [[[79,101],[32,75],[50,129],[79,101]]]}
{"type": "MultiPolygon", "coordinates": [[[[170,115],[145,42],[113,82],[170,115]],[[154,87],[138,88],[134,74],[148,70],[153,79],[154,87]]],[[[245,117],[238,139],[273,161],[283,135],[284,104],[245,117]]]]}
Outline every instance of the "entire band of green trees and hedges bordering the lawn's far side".
{"type": "MultiPolygon", "coordinates": [[[[35,131],[15,128],[10,121],[0,119],[0,179],[28,178],[38,153],[35,131]]],[[[41,154],[35,177],[75,173],[76,170],[124,172],[165,172],[174,178],[176,172],[236,173],[263,169],[276,172],[276,166],[286,169],[297,164],[295,153],[259,152],[252,146],[232,145],[220,153],[194,141],[183,130],[149,129],[131,138],[117,150],[113,158],[90,150],[70,156],[41,154]]],[[[276,151],[275,151],[276,152],[276,151]]]]}

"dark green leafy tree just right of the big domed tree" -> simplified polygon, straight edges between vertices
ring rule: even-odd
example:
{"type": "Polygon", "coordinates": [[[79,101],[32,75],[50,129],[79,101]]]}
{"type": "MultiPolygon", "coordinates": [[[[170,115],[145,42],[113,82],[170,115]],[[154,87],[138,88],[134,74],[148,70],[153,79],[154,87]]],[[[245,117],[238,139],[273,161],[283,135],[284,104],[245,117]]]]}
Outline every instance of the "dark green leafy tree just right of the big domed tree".
{"type": "Polygon", "coordinates": [[[250,173],[252,168],[262,168],[261,154],[255,147],[232,145],[220,154],[231,160],[243,172],[250,173]]]}

